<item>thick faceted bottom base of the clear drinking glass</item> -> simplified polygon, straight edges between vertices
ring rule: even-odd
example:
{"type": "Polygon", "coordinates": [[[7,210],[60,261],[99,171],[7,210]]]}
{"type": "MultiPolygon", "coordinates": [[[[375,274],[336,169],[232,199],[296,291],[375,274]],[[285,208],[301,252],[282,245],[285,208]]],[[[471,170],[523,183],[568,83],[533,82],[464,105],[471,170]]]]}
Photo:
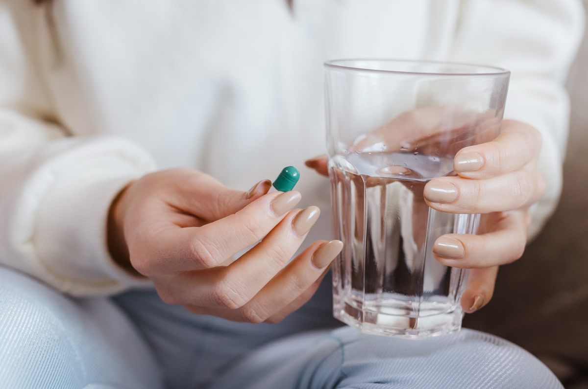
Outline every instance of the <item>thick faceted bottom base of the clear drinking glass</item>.
{"type": "Polygon", "coordinates": [[[458,306],[452,311],[440,313],[436,307],[422,306],[416,317],[406,309],[380,307],[361,308],[333,296],[333,316],[366,334],[395,336],[408,339],[424,339],[455,333],[462,327],[463,313],[458,306]]]}

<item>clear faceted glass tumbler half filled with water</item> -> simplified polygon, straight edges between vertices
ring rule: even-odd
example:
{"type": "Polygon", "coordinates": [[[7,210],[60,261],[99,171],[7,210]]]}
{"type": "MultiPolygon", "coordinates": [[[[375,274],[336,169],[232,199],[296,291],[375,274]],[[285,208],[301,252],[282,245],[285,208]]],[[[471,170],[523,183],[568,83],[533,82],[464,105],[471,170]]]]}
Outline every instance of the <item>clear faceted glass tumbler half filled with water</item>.
{"type": "Polygon", "coordinates": [[[333,313],[365,333],[423,338],[459,330],[467,270],[440,264],[446,233],[478,214],[433,210],[429,180],[452,176],[463,147],[500,132],[510,72],[459,63],[325,63],[333,230],[333,313]]]}

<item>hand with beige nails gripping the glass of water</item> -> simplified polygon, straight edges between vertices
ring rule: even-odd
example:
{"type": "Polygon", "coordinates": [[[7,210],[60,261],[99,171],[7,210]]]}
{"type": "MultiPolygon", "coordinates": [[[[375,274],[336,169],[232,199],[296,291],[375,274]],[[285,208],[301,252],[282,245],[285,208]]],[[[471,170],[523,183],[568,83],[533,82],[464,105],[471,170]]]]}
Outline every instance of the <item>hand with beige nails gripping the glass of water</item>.
{"type": "MultiPolygon", "coordinates": [[[[482,213],[479,234],[446,234],[436,240],[433,254],[447,266],[472,269],[462,307],[472,313],[485,306],[494,291],[498,267],[519,259],[527,242],[529,206],[545,189],[537,169],[541,135],[532,126],[503,120],[495,140],[457,152],[458,176],[437,177],[425,186],[425,202],[449,213],[482,213]]],[[[319,156],[306,165],[328,175],[319,156]]]]}

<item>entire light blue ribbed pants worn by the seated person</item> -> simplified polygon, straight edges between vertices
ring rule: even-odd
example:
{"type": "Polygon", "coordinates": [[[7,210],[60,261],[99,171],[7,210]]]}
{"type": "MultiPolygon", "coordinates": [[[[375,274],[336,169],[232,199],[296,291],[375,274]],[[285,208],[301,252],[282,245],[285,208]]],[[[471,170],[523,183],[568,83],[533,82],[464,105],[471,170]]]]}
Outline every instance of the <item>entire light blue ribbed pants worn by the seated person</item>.
{"type": "Polygon", "coordinates": [[[505,340],[333,330],[329,284],[280,324],[196,316],[155,293],[69,299],[0,267],[2,388],[562,388],[505,340]]]}

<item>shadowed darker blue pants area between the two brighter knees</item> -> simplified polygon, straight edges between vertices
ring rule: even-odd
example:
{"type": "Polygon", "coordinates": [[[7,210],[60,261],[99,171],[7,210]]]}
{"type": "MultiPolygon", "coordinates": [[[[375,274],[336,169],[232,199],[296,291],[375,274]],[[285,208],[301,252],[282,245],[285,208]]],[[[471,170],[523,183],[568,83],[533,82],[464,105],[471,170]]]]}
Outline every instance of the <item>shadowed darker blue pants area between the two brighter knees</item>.
{"type": "MultiPolygon", "coordinates": [[[[253,350],[280,338],[342,325],[333,319],[330,281],[279,324],[236,323],[163,303],[155,291],[129,291],[113,301],[133,321],[161,366],[166,388],[202,388],[253,350]]],[[[246,388],[247,387],[241,387],[246,388]]]]}

